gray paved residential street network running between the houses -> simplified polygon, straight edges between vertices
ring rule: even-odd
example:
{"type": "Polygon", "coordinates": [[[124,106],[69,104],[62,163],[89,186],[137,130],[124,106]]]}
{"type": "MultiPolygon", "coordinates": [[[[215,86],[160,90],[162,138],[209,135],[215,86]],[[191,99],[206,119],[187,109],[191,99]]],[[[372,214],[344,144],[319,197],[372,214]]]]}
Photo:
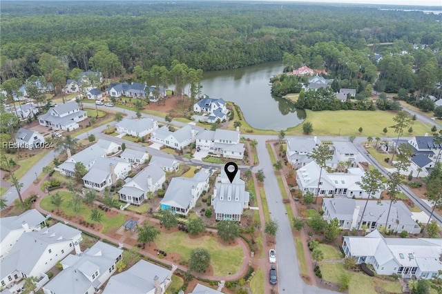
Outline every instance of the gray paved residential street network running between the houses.
{"type": "MultiPolygon", "coordinates": [[[[90,104],[92,105],[92,104],[90,104]]],[[[106,110],[105,106],[99,106],[99,108],[103,108],[103,110],[106,110]]],[[[135,117],[135,112],[131,110],[124,110],[122,108],[113,108],[113,110],[125,112],[128,117],[135,117]]],[[[152,119],[155,119],[160,122],[164,122],[164,119],[162,117],[154,117],[152,115],[144,115],[143,117],[149,117],[152,119]]],[[[419,117],[419,116],[418,116],[419,117]]],[[[421,119],[421,117],[419,117],[421,119]]],[[[113,126],[115,124],[115,121],[113,121],[110,125],[113,126]]],[[[173,124],[176,126],[184,126],[184,123],[180,123],[178,121],[173,121],[173,124]]],[[[88,135],[93,134],[97,139],[108,139],[111,141],[115,141],[119,144],[125,143],[126,147],[132,148],[134,150],[147,150],[149,154],[151,155],[157,155],[162,157],[173,157],[173,155],[169,155],[166,153],[163,153],[160,150],[156,150],[153,148],[141,146],[140,144],[133,143],[131,141],[126,141],[124,139],[120,139],[117,137],[113,137],[110,135],[104,135],[102,133],[102,130],[104,130],[106,126],[100,126],[98,128],[95,128],[93,130],[90,130],[88,133],[83,133],[79,135],[78,139],[85,139],[88,135]]],[[[201,129],[200,127],[195,126],[195,128],[201,129]]],[[[244,137],[250,138],[250,139],[256,139],[258,141],[257,145],[257,152],[258,152],[258,158],[259,158],[259,165],[253,167],[253,172],[257,172],[258,170],[262,169],[265,174],[265,181],[264,181],[264,187],[265,187],[265,193],[267,197],[267,203],[269,206],[269,213],[273,219],[275,219],[278,224],[278,233],[276,235],[276,255],[278,260],[278,288],[279,293],[331,293],[330,291],[324,290],[322,288],[318,288],[316,286],[309,286],[305,284],[305,282],[302,281],[299,273],[299,266],[298,266],[298,258],[296,256],[296,248],[294,244],[294,238],[291,233],[291,220],[288,219],[287,213],[285,210],[285,206],[282,203],[282,195],[280,193],[280,189],[278,186],[278,182],[274,173],[273,166],[271,164],[271,159],[269,157],[269,154],[267,152],[266,148],[266,141],[269,139],[278,139],[276,135],[269,136],[269,135],[244,135],[244,137]]],[[[294,138],[294,137],[288,137],[288,138],[294,138]]],[[[322,140],[347,140],[347,137],[318,137],[322,140]]],[[[376,161],[372,159],[369,155],[367,155],[367,151],[361,146],[361,142],[365,141],[365,137],[358,137],[354,141],[354,145],[356,148],[358,148],[359,152],[367,158],[367,161],[369,161],[371,164],[376,166],[383,175],[387,175],[387,172],[385,168],[383,168],[380,164],[378,164],[376,161]]],[[[55,157],[55,151],[52,150],[48,155],[46,155],[44,158],[42,158],[35,166],[30,167],[28,170],[28,173],[24,175],[20,182],[23,183],[22,191],[25,191],[35,180],[35,174],[39,175],[42,171],[42,168],[44,166],[47,166],[50,161],[52,161],[55,157]]],[[[198,165],[202,166],[204,168],[220,168],[223,166],[223,164],[207,164],[204,161],[199,161],[196,159],[186,159],[182,157],[175,156],[176,159],[179,159],[181,161],[186,161],[186,164],[192,164],[192,165],[198,165]]],[[[248,168],[247,166],[240,166],[240,168],[248,168]]],[[[430,208],[422,202],[421,199],[413,195],[410,190],[407,190],[406,188],[403,189],[403,192],[412,199],[416,205],[421,207],[425,212],[427,212],[430,208]]],[[[12,204],[14,199],[18,197],[17,191],[14,187],[10,188],[8,192],[5,194],[6,200],[8,205],[12,204]]],[[[439,224],[442,224],[442,217],[439,215],[434,215],[434,219],[436,219],[439,224]]],[[[267,254],[267,253],[265,253],[267,254]]],[[[265,271],[265,282],[268,283],[268,268],[263,268],[265,271]]]]}

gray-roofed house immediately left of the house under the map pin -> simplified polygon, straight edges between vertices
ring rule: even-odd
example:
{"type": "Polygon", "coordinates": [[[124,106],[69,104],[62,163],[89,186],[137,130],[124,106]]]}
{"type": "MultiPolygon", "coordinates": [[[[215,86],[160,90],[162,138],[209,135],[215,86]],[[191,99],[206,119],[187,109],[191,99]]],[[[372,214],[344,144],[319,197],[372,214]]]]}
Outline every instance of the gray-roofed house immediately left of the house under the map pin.
{"type": "Polygon", "coordinates": [[[161,209],[187,215],[195,207],[200,195],[209,190],[209,170],[202,169],[193,178],[174,177],[161,200],[161,209]]]}

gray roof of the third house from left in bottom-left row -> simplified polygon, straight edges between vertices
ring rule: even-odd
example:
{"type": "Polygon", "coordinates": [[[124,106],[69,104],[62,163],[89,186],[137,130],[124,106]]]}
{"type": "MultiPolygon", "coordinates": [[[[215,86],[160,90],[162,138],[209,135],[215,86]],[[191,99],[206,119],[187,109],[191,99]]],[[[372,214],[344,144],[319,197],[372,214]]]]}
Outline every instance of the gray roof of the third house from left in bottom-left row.
{"type": "MultiPolygon", "coordinates": [[[[48,284],[45,289],[54,293],[85,293],[91,286],[99,286],[97,278],[90,282],[86,275],[92,275],[99,270],[99,275],[108,273],[109,268],[116,262],[122,250],[109,244],[98,241],[91,248],[86,249],[81,255],[70,258],[73,264],[61,271],[48,284]]],[[[66,257],[66,259],[68,259],[66,257]]],[[[64,262],[64,261],[63,261],[64,262]]]]}

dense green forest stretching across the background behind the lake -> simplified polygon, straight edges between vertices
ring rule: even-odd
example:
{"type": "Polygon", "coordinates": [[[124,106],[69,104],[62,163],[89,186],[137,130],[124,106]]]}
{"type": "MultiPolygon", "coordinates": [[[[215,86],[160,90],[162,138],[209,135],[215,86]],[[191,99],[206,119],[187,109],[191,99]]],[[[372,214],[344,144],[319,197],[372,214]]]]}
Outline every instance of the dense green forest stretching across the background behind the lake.
{"type": "Polygon", "coordinates": [[[287,70],[326,68],[332,88],[358,94],[441,95],[442,14],[214,1],[2,1],[1,12],[2,83],[66,79],[73,69],[141,80],[174,62],[209,71],[281,60],[287,70]]]}

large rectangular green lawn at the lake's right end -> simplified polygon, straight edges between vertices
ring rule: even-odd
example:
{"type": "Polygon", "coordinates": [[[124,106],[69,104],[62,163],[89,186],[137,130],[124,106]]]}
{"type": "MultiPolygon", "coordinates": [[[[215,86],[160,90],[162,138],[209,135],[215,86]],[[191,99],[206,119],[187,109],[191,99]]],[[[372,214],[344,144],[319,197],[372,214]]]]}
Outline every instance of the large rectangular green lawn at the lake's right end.
{"type": "MultiPolygon", "coordinates": [[[[394,112],[382,110],[360,111],[360,110],[338,110],[338,111],[311,111],[305,110],[307,118],[313,124],[311,135],[327,136],[364,136],[364,137],[396,137],[392,128],[394,125],[394,112]],[[358,132],[359,127],[363,127],[363,133],[358,132]],[[388,133],[384,135],[383,128],[388,128],[388,133]]],[[[431,126],[430,126],[431,127],[431,126]]],[[[414,121],[413,135],[425,135],[428,126],[420,121],[414,121]]],[[[286,135],[302,135],[302,124],[287,129],[286,135]]]]}

